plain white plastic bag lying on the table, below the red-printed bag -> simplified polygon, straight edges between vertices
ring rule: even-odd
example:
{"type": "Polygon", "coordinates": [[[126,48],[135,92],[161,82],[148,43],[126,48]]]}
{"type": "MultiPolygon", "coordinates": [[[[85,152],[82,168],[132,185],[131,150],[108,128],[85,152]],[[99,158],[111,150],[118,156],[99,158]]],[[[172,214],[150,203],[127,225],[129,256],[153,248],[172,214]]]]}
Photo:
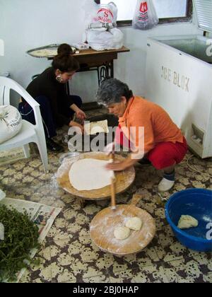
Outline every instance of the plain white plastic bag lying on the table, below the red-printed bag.
{"type": "Polygon", "coordinates": [[[108,31],[87,30],[87,42],[93,50],[118,50],[123,46],[124,34],[117,28],[108,31]]]}

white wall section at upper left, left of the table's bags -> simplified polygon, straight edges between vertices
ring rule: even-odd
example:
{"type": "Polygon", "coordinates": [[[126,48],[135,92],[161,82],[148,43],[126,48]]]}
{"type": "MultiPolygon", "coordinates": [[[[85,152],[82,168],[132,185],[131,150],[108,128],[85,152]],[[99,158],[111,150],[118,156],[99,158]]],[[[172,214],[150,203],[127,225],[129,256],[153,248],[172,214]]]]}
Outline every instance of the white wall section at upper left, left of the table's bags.
{"type": "Polygon", "coordinates": [[[78,42],[84,31],[83,5],[86,0],[0,0],[0,73],[28,86],[31,76],[41,73],[50,61],[26,52],[54,43],[78,42]]]}

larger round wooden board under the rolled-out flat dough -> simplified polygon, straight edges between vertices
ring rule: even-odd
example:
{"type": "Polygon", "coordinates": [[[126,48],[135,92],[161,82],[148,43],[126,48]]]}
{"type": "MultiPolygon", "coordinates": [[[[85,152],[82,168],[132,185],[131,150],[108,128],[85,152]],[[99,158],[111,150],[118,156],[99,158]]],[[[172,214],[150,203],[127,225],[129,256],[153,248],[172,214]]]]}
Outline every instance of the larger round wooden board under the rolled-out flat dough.
{"type": "MultiPolygon", "coordinates": [[[[81,153],[80,158],[94,158],[98,160],[109,160],[109,156],[106,153],[101,152],[90,152],[90,153],[81,153]]],[[[115,155],[114,161],[122,161],[124,157],[115,155]]],[[[62,166],[62,165],[61,165],[62,166]]],[[[66,192],[73,194],[77,197],[82,197],[83,199],[88,200],[97,200],[97,199],[105,199],[110,198],[110,185],[107,187],[102,187],[102,189],[98,190],[91,190],[91,191],[78,191],[74,187],[72,187],[71,183],[69,182],[69,170],[71,168],[70,165],[67,164],[62,173],[57,177],[57,182],[60,187],[62,187],[66,192]]],[[[61,171],[61,168],[59,168],[61,171]]],[[[88,173],[89,174],[89,173],[88,173]]],[[[116,193],[119,194],[127,190],[131,184],[134,182],[136,173],[134,167],[131,167],[127,170],[116,172],[116,193]]]]}

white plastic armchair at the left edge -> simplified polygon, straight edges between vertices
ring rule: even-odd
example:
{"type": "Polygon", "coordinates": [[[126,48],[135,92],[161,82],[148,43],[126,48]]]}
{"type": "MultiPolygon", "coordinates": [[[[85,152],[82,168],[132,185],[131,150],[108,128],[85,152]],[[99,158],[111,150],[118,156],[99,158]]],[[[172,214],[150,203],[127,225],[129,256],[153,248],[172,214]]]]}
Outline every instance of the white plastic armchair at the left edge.
{"type": "Polygon", "coordinates": [[[45,168],[45,173],[48,171],[48,156],[47,156],[47,145],[45,140],[45,132],[42,125],[42,117],[40,114],[40,105],[33,99],[33,97],[25,91],[16,81],[11,78],[0,76],[0,105],[10,104],[10,91],[16,91],[22,96],[27,103],[33,108],[35,115],[35,125],[28,121],[23,120],[20,132],[12,139],[8,139],[3,144],[0,144],[0,151],[6,151],[11,148],[17,148],[23,146],[23,152],[25,158],[30,157],[28,144],[34,142],[40,152],[42,164],[45,168]]]}

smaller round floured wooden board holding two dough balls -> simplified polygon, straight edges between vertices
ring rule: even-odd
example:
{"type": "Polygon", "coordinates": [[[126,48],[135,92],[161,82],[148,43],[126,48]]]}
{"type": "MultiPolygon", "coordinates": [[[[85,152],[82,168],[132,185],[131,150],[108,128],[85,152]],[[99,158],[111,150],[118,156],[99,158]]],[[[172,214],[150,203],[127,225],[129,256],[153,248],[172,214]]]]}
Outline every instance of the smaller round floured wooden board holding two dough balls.
{"type": "Polygon", "coordinates": [[[90,223],[90,237],[95,245],[105,252],[114,255],[129,255],[140,252],[155,236],[155,221],[147,211],[134,205],[117,205],[100,211],[90,223]],[[128,238],[117,240],[114,229],[124,227],[131,217],[139,217],[143,223],[140,231],[130,231],[128,238]]]}

